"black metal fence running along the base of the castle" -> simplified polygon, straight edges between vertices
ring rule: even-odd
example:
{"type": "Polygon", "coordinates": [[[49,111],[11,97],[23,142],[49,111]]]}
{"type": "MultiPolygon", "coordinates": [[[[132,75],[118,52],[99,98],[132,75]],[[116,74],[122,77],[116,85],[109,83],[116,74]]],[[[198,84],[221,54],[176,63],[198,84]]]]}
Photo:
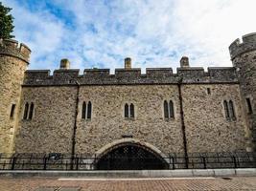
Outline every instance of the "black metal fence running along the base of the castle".
{"type": "MultiPolygon", "coordinates": [[[[86,156],[82,154],[74,157],[67,154],[0,154],[0,170],[98,170],[97,162],[100,159],[86,156]]],[[[151,168],[155,166],[153,159],[137,159],[130,156],[118,159],[107,158],[105,163],[109,165],[106,165],[105,170],[117,170],[111,162],[119,159],[124,161],[124,166],[119,166],[118,170],[155,169],[155,167],[151,168]],[[127,169],[125,166],[133,166],[133,168],[127,169]]],[[[165,163],[164,169],[256,168],[256,153],[245,152],[194,153],[189,154],[187,158],[182,154],[169,154],[162,160],[165,163]]]]}

